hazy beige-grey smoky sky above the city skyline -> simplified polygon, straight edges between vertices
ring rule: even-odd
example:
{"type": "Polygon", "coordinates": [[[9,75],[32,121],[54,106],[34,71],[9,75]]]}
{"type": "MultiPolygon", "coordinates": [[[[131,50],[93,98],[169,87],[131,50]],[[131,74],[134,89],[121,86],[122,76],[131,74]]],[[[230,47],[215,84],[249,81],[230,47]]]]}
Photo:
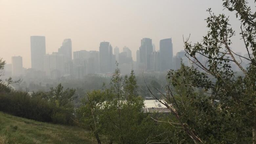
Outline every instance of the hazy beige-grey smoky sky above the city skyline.
{"type": "MultiPolygon", "coordinates": [[[[46,37],[46,52],[57,51],[63,39],[71,38],[73,51],[99,50],[109,41],[122,51],[136,50],[140,40],[151,38],[159,50],[159,41],[172,38],[174,55],[183,50],[182,35],[191,33],[197,42],[206,34],[205,11],[230,15],[230,23],[239,33],[235,14],[223,10],[222,0],[0,0],[0,57],[11,63],[11,56],[22,56],[23,66],[31,67],[30,36],[46,37]]],[[[237,36],[233,48],[239,51],[237,36]]]]}

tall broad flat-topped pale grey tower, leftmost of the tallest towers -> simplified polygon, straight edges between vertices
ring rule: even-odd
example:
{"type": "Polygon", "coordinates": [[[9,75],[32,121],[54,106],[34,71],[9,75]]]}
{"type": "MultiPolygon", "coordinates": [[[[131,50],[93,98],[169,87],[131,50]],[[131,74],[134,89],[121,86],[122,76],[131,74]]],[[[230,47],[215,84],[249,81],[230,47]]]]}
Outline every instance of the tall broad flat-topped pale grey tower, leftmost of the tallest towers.
{"type": "Polygon", "coordinates": [[[31,36],[31,68],[43,71],[45,55],[45,36],[31,36]]]}

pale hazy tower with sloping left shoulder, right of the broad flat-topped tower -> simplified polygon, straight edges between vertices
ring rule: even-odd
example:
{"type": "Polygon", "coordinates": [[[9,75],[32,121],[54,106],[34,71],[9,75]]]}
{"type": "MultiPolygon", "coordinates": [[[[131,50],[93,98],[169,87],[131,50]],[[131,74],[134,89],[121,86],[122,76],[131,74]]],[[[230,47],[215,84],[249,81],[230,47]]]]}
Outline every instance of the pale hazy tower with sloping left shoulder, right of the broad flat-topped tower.
{"type": "Polygon", "coordinates": [[[62,46],[58,49],[59,54],[63,54],[67,61],[72,60],[72,42],[71,39],[64,39],[62,46]]]}

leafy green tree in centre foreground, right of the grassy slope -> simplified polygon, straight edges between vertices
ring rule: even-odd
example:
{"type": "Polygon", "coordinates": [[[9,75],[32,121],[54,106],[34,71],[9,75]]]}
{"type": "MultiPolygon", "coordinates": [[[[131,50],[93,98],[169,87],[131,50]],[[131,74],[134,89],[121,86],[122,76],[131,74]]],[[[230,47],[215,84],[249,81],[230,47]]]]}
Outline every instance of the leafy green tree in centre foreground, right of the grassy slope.
{"type": "Polygon", "coordinates": [[[116,69],[110,88],[87,93],[77,110],[79,123],[90,128],[98,143],[146,143],[150,134],[142,130],[150,122],[137,88],[133,71],[122,77],[116,69]]]}

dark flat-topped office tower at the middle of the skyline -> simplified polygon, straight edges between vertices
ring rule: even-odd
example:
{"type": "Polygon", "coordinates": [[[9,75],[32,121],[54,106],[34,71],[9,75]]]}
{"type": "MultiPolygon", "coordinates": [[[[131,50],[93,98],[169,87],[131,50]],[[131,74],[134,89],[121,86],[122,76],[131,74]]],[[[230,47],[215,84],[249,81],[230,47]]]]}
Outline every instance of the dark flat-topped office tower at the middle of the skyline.
{"type": "Polygon", "coordinates": [[[113,72],[113,52],[109,42],[101,42],[99,46],[99,67],[100,72],[113,72]]]}

